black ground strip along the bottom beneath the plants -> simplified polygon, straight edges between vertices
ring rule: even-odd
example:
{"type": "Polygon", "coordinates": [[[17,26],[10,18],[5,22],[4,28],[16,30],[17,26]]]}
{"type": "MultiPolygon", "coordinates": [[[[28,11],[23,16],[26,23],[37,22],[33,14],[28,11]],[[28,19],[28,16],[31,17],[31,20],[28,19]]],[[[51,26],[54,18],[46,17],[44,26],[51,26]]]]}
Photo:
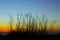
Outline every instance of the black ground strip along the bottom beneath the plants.
{"type": "Polygon", "coordinates": [[[37,35],[35,32],[11,32],[5,36],[0,35],[0,40],[42,40],[42,39],[60,39],[58,35],[37,35]]]}

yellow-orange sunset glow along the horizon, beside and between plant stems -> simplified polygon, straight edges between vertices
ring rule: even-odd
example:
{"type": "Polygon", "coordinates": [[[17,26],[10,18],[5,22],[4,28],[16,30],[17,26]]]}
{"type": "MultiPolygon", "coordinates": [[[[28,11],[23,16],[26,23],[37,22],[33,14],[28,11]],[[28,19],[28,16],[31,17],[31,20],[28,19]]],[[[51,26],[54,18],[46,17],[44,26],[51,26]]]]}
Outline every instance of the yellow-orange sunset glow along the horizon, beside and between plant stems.
{"type": "MultiPolygon", "coordinates": [[[[21,27],[22,27],[22,25],[21,25],[21,27]]],[[[16,31],[16,23],[13,24],[12,28],[13,28],[13,31],[16,31]]],[[[26,25],[25,25],[24,29],[26,30],[26,25]]],[[[39,27],[39,29],[40,29],[40,27],[39,27]]],[[[20,28],[20,30],[23,30],[23,27],[20,28]]],[[[60,25],[59,25],[59,23],[56,23],[55,25],[53,25],[52,30],[55,31],[55,32],[60,32],[60,25]]],[[[49,23],[47,24],[47,31],[51,31],[49,23]]],[[[9,24],[8,23],[0,23],[0,32],[10,32],[9,24]]]]}

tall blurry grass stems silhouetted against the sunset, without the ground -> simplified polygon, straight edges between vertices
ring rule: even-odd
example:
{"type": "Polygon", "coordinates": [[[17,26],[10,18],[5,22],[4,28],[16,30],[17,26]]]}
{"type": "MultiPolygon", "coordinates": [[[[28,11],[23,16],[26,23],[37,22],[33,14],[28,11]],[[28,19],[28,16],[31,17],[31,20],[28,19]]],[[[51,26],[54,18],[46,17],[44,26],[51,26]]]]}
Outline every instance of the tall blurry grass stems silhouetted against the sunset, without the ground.
{"type": "MultiPolygon", "coordinates": [[[[13,31],[13,17],[10,16],[10,31],[13,31]]],[[[36,15],[36,19],[32,16],[32,13],[26,14],[24,18],[21,17],[22,15],[17,14],[17,23],[16,23],[16,31],[17,32],[41,32],[46,33],[48,28],[48,18],[46,15],[42,15],[42,21],[38,15],[36,15]],[[22,20],[22,23],[21,23],[22,20]]],[[[53,25],[55,25],[56,20],[50,22],[50,29],[52,32],[53,25]]]]}

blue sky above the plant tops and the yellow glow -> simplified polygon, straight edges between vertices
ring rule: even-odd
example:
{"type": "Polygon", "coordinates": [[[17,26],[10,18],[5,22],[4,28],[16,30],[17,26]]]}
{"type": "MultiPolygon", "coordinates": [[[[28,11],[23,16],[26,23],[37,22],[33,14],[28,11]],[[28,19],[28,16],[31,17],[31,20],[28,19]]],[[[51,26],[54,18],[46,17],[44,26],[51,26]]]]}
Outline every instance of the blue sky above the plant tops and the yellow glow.
{"type": "Polygon", "coordinates": [[[60,19],[60,0],[0,0],[0,21],[8,20],[9,13],[16,18],[17,13],[37,12],[45,14],[49,19],[60,19]]]}

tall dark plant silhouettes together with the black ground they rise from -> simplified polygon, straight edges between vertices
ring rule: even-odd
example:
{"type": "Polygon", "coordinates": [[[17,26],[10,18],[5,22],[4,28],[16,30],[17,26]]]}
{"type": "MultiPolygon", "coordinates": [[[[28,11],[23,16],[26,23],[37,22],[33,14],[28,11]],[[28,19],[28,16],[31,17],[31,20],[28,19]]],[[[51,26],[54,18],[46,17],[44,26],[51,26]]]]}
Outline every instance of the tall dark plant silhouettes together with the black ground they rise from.
{"type": "MultiPolygon", "coordinates": [[[[10,16],[10,15],[9,15],[10,16]]],[[[48,28],[48,19],[45,18],[45,15],[42,17],[42,21],[40,21],[40,18],[35,19],[32,17],[32,14],[26,15],[26,19],[22,19],[17,15],[17,23],[16,23],[16,31],[13,31],[13,18],[10,16],[10,33],[7,35],[0,35],[0,40],[34,40],[34,39],[55,39],[59,38],[60,34],[47,34],[47,28],[48,28]],[[39,22],[38,22],[39,21],[39,22]],[[11,30],[13,32],[11,32],[11,30]],[[20,32],[20,30],[24,32],[20,32]]],[[[51,33],[53,32],[53,27],[55,26],[56,20],[50,22],[50,28],[51,33]]]]}

